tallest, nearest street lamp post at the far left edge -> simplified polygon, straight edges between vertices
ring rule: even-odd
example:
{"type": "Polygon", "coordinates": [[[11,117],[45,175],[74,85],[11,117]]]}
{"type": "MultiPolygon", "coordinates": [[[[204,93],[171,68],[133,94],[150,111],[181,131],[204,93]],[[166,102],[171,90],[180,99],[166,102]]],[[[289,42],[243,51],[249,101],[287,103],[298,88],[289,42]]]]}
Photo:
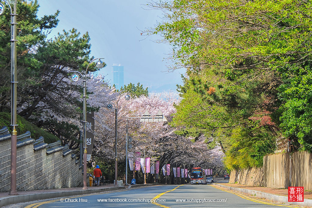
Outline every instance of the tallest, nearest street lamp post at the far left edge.
{"type": "MultiPolygon", "coordinates": [[[[16,191],[16,155],[17,155],[17,131],[16,131],[16,3],[14,1],[14,7],[9,2],[3,0],[10,8],[11,15],[11,190],[9,195],[18,195],[16,191]]],[[[1,11],[0,15],[4,12],[4,5],[0,3],[1,11]]]]}

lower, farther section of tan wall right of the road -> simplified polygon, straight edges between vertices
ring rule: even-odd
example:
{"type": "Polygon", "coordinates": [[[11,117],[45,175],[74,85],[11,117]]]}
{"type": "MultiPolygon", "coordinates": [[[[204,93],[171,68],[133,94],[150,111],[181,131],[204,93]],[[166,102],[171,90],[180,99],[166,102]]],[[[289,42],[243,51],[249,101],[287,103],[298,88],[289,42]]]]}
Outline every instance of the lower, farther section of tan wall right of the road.
{"type": "Polygon", "coordinates": [[[263,186],[262,167],[253,167],[244,170],[232,170],[229,183],[236,182],[248,186],[263,186]]]}

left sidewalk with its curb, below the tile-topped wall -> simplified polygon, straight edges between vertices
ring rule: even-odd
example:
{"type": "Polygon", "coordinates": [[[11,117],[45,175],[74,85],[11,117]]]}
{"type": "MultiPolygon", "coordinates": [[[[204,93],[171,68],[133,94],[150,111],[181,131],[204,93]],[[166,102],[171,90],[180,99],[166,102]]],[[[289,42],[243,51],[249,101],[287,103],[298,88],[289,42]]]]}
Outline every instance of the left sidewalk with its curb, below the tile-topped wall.
{"type": "Polygon", "coordinates": [[[36,201],[42,199],[52,199],[65,196],[77,196],[84,194],[100,193],[104,191],[117,191],[141,186],[154,186],[159,184],[138,184],[131,186],[114,186],[114,184],[102,186],[88,186],[88,189],[82,190],[82,187],[64,188],[64,189],[46,189],[32,191],[17,191],[19,195],[9,195],[9,192],[0,192],[0,207],[21,202],[36,201]]]}

